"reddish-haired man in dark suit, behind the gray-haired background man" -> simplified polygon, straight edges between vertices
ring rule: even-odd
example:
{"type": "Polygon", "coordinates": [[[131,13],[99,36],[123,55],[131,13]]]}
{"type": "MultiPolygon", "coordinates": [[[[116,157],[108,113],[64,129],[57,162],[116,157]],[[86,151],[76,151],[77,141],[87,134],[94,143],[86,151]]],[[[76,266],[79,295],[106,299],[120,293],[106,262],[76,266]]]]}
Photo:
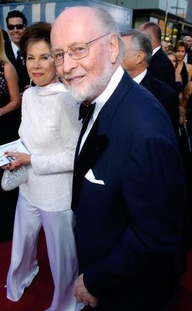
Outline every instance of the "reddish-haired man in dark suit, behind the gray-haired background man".
{"type": "Polygon", "coordinates": [[[157,23],[148,21],[140,25],[139,30],[146,32],[153,47],[153,55],[148,71],[153,77],[165,82],[175,89],[175,71],[170,59],[166,56],[161,47],[162,30],[157,23]]]}

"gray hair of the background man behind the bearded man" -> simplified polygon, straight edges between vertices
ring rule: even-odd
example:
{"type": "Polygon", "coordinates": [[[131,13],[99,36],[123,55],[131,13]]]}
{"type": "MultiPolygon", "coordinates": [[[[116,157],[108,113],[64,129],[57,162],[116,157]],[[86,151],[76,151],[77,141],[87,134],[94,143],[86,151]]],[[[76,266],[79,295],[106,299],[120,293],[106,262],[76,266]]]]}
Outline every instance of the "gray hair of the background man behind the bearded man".
{"type": "Polygon", "coordinates": [[[123,35],[131,36],[131,42],[133,44],[132,47],[135,50],[142,50],[144,52],[146,66],[148,67],[153,53],[150,37],[146,34],[146,32],[142,32],[137,29],[128,30],[128,32],[123,35]]]}

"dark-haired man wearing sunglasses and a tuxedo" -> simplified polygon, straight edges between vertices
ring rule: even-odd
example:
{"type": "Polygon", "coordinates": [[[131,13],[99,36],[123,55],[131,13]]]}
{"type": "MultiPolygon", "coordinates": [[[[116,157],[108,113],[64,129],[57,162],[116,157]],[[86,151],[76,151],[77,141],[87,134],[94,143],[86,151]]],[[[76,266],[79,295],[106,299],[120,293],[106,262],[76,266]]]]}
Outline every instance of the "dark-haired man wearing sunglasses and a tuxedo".
{"type": "Polygon", "coordinates": [[[30,78],[26,70],[25,60],[19,54],[19,43],[28,21],[22,12],[12,10],[8,12],[6,23],[10,35],[10,41],[5,44],[6,55],[17,70],[17,75],[19,77],[19,91],[20,93],[23,93],[30,84],[30,78]]]}

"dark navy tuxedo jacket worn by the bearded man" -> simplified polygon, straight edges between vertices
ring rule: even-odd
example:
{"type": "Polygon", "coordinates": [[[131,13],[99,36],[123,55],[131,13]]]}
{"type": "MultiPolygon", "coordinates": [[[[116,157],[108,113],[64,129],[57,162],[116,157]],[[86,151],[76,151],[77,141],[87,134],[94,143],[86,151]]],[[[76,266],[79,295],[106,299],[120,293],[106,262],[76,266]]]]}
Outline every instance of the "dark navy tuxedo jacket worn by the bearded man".
{"type": "MultiPolygon", "coordinates": [[[[79,271],[95,311],[157,311],[182,271],[185,180],[169,117],[126,73],[75,162],[79,271]],[[96,180],[85,178],[92,169],[96,180]]],[[[92,310],[92,309],[91,309],[92,310]]]]}

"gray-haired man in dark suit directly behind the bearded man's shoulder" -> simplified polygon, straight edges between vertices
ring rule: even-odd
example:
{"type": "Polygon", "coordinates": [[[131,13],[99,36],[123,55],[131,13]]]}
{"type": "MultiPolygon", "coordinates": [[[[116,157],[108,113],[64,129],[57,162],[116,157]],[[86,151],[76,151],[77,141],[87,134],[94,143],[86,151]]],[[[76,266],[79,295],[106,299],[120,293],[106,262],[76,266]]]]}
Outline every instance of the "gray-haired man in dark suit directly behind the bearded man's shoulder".
{"type": "Polygon", "coordinates": [[[179,97],[167,84],[155,79],[148,73],[153,48],[148,35],[140,30],[130,30],[122,37],[126,46],[126,54],[122,67],[127,70],[133,80],[148,89],[159,100],[169,114],[176,135],[179,134],[179,97]]]}

